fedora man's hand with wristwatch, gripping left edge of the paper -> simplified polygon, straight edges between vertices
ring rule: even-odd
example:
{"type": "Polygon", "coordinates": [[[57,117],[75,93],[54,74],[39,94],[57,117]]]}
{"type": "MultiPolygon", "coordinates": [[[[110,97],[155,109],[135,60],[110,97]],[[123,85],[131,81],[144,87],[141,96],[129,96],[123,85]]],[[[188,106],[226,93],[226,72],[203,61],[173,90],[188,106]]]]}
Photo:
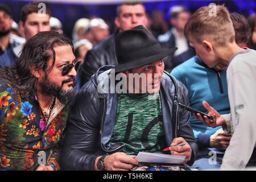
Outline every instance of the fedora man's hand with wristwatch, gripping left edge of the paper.
{"type": "MultiPolygon", "coordinates": [[[[116,152],[114,154],[106,156],[104,159],[104,165],[106,171],[127,171],[133,168],[133,165],[138,164],[138,160],[134,159],[136,156],[129,156],[123,152],[116,152]]],[[[97,162],[100,157],[96,159],[96,166],[97,162]]],[[[94,168],[95,168],[94,167],[94,168]]]]}

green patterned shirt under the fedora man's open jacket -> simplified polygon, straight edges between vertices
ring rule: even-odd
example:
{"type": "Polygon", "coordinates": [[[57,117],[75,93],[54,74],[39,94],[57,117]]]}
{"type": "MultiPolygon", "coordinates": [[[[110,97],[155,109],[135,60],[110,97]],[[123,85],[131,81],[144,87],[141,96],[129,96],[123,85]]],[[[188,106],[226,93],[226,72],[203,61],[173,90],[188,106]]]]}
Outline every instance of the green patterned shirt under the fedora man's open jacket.
{"type": "Polygon", "coordinates": [[[164,137],[160,94],[118,94],[117,117],[110,142],[125,143],[122,152],[160,150],[164,137]]]}

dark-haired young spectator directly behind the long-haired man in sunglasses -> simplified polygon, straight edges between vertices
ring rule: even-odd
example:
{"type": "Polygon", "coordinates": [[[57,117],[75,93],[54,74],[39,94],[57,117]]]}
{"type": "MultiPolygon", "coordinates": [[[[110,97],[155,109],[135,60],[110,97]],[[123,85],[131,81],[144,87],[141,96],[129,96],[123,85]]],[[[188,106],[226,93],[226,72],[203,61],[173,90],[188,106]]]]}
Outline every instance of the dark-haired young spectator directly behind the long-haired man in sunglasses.
{"type": "MultiPolygon", "coordinates": [[[[51,11],[46,6],[46,14],[40,13],[40,6],[38,7],[38,4],[39,2],[28,3],[22,7],[20,13],[19,27],[20,31],[23,32],[26,41],[39,32],[51,30],[49,26],[51,11]]],[[[14,53],[17,57],[22,51],[24,44],[20,44],[14,48],[14,53]]]]}

